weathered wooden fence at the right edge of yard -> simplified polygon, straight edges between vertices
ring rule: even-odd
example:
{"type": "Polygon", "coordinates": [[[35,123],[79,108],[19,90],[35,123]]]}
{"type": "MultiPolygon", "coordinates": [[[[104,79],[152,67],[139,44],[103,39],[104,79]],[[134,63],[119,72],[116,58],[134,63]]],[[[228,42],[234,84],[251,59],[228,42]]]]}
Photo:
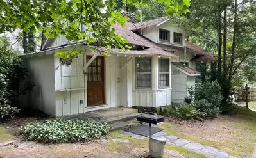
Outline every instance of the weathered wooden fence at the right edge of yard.
{"type": "MultiPolygon", "coordinates": [[[[248,100],[256,100],[256,88],[249,88],[248,92],[248,100]]],[[[245,88],[237,90],[236,99],[246,101],[245,88]]]]}

